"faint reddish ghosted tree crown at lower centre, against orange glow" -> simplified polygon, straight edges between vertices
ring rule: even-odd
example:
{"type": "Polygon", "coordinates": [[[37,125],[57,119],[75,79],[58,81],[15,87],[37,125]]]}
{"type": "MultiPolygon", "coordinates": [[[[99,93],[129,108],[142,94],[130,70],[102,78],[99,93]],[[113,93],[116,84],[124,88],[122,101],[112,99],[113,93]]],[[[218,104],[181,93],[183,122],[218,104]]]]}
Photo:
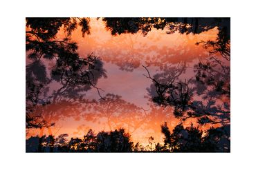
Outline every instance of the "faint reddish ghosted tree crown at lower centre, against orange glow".
{"type": "Polygon", "coordinates": [[[89,107],[84,108],[82,114],[85,120],[100,121],[109,130],[122,127],[132,134],[147,119],[145,109],[127,102],[116,94],[106,94],[104,100],[93,100],[93,102],[86,103],[86,105],[89,107]]]}

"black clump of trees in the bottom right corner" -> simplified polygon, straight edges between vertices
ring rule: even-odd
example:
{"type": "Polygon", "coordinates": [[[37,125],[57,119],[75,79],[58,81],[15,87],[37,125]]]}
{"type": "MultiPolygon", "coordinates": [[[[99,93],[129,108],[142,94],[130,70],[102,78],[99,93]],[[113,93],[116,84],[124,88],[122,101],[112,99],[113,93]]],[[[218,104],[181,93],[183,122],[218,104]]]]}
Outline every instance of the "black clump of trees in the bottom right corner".
{"type": "Polygon", "coordinates": [[[179,124],[171,133],[167,123],[161,125],[164,138],[164,146],[158,144],[157,151],[171,152],[229,152],[230,151],[230,127],[217,127],[205,131],[199,127],[184,128],[179,124]]]}

